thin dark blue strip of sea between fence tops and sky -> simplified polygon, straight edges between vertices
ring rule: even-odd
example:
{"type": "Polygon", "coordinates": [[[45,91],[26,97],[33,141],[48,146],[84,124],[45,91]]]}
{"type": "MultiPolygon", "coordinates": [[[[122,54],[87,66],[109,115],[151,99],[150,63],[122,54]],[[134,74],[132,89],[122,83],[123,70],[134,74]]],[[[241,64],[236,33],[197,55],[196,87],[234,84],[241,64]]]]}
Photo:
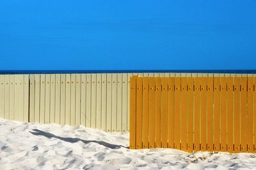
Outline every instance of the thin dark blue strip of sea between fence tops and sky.
{"type": "Polygon", "coordinates": [[[91,74],[91,73],[208,73],[256,74],[256,69],[243,70],[0,70],[0,74],[91,74]]]}

